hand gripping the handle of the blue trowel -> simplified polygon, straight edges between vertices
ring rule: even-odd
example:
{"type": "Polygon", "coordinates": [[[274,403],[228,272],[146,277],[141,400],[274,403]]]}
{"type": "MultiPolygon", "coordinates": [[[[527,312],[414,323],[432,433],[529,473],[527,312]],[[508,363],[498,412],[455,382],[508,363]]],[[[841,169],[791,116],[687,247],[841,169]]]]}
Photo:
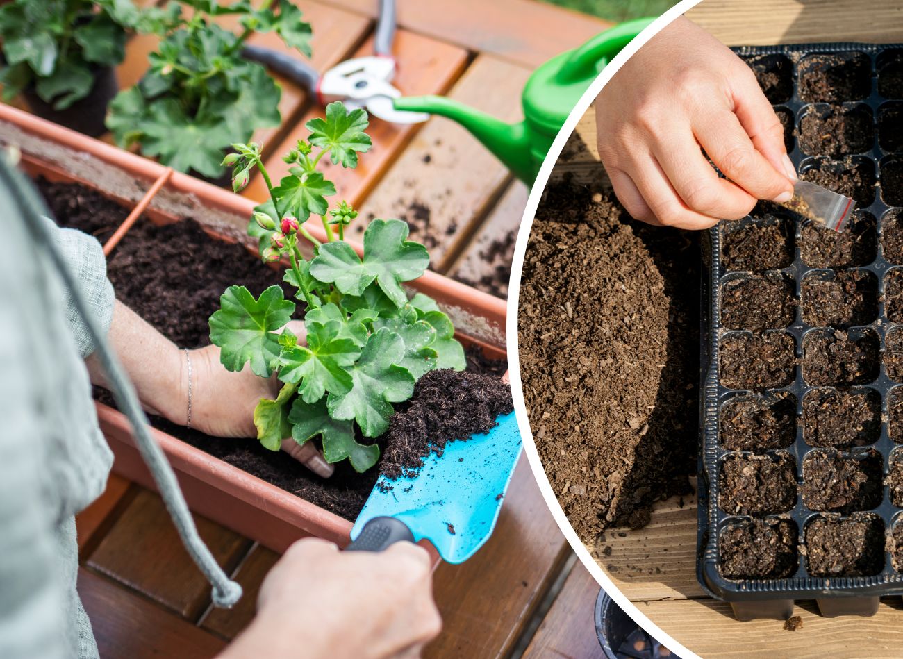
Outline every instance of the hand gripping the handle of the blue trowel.
{"type": "Polygon", "coordinates": [[[442,619],[429,554],[411,543],[340,552],[301,540],[266,575],[257,616],[226,657],[418,656],[442,619]]]}

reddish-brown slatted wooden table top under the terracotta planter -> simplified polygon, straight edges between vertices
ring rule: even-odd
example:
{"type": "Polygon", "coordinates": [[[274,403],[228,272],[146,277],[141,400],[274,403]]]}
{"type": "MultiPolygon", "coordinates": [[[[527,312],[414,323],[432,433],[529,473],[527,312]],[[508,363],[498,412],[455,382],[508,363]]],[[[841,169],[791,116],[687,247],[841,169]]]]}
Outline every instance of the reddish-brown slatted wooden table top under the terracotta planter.
{"type": "MultiPolygon", "coordinates": [[[[376,0],[293,2],[312,23],[317,69],[372,51],[376,0]]],[[[398,5],[396,86],[407,95],[445,94],[510,121],[521,117],[520,90],[537,64],[608,26],[534,0],[398,5]]],[[[255,39],[281,47],[272,34],[255,39]]],[[[121,86],[140,79],[154,47],[154,38],[144,36],[127,44],[121,86]]],[[[303,89],[284,81],[283,89],[282,125],[255,135],[276,176],[279,156],[307,119],[322,113],[303,89]]],[[[374,119],[368,133],[374,146],[358,169],[330,172],[340,196],[363,217],[409,219],[414,239],[431,246],[434,270],[506,295],[514,247],[507,237],[523,215],[526,186],[442,117],[413,126],[374,119]]],[[[246,194],[261,200],[260,181],[246,194]]],[[[247,625],[256,589],[278,556],[219,524],[200,517],[198,524],[219,562],[245,587],[232,610],[210,608],[209,587],[156,494],[113,476],[104,496],[79,515],[79,589],[101,656],[209,657],[247,625]]],[[[435,573],[444,628],[426,654],[600,655],[592,623],[598,590],[574,563],[522,459],[489,543],[469,562],[442,564],[435,573]]]]}

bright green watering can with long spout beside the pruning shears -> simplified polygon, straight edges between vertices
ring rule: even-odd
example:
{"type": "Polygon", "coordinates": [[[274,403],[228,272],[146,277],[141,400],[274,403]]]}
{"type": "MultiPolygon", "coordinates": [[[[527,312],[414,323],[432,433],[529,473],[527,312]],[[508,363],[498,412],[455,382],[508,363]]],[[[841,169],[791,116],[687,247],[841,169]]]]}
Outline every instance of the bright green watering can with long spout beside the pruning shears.
{"type": "Polygon", "coordinates": [[[458,122],[483,143],[498,160],[527,185],[539,167],[573,107],[601,70],[654,18],[620,23],[601,32],[573,51],[563,52],[541,65],[526,81],[524,120],[506,124],[494,116],[440,96],[398,97],[396,110],[427,112],[458,122]]]}

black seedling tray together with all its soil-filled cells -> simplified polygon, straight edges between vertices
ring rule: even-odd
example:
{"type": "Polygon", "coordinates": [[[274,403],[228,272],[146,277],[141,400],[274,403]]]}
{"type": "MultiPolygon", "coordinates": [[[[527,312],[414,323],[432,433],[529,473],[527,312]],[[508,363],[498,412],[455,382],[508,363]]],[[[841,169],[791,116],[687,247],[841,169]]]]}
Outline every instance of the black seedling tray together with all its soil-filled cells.
{"type": "Polygon", "coordinates": [[[697,573],[739,619],[872,615],[903,595],[903,45],[737,52],[857,209],[835,234],[762,202],[703,241],[697,573]]]}

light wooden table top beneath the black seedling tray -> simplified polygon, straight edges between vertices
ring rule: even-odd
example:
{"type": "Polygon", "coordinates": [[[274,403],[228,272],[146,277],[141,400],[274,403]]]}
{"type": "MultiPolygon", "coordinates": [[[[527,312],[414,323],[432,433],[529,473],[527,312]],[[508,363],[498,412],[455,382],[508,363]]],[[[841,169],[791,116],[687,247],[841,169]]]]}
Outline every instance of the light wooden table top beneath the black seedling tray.
{"type": "MultiPolygon", "coordinates": [[[[903,1],[703,0],[686,14],[728,45],[795,42],[903,42],[903,1]]],[[[604,181],[596,151],[592,107],[582,117],[567,159],[554,176],[604,181]]],[[[814,601],[796,603],[796,632],[777,620],[738,622],[730,604],[713,600],[696,580],[694,499],[660,503],[639,531],[610,529],[590,552],[638,608],[688,649],[709,657],[898,657],[903,646],[903,604],[881,601],[874,617],[826,618],[814,601]],[[683,506],[681,505],[683,503],[683,506]],[[603,547],[610,555],[603,554],[603,547]]]]}

